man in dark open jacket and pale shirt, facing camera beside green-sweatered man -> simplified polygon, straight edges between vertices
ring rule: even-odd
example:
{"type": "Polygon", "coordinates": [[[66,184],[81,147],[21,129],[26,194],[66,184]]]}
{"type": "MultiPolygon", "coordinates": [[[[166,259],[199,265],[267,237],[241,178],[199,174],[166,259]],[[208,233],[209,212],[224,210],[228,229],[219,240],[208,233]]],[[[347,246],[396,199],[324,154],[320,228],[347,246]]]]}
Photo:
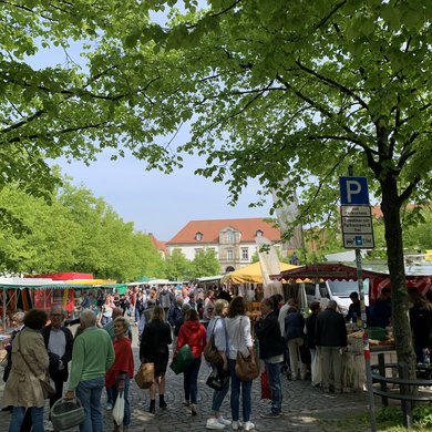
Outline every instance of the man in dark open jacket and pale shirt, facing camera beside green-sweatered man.
{"type": "MultiPolygon", "coordinates": [[[[68,363],[72,359],[73,336],[71,330],[63,326],[66,318],[65,310],[55,305],[51,308],[51,323],[41,330],[43,341],[50,358],[50,377],[55,387],[55,394],[50,398],[50,409],[63,397],[63,382],[68,381],[68,363]]],[[[45,430],[52,430],[51,410],[45,430]]]]}

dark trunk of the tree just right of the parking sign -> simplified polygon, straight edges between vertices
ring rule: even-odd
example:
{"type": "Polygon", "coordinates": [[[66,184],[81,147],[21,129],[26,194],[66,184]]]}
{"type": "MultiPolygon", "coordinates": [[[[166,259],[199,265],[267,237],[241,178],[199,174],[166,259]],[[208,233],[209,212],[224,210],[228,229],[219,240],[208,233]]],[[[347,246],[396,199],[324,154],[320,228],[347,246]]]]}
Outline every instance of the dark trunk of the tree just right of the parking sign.
{"type": "Polygon", "coordinates": [[[415,356],[408,309],[408,289],[403,260],[402,226],[400,209],[402,203],[398,196],[397,178],[391,172],[381,177],[384,216],[387,259],[391,284],[392,325],[398,353],[398,362],[409,364],[410,379],[415,378],[415,356]]]}

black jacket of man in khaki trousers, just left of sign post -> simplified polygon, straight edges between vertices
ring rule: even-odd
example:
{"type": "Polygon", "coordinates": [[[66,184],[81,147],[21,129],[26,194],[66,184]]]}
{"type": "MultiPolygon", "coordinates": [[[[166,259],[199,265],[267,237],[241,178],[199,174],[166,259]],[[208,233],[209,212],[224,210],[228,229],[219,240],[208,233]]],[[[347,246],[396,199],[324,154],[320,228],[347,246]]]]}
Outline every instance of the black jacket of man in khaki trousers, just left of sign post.
{"type": "Polygon", "coordinates": [[[348,336],[344,318],[329,308],[318,313],[315,342],[317,347],[347,347],[348,336]]]}

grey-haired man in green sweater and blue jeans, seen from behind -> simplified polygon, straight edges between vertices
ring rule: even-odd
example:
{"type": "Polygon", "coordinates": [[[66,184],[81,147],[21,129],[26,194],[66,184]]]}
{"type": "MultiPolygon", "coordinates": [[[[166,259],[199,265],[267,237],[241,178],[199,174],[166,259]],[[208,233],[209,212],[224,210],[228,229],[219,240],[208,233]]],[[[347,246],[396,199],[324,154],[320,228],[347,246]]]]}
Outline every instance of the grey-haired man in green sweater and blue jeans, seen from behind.
{"type": "Polygon", "coordinates": [[[114,362],[110,335],[96,327],[96,315],[86,309],[81,315],[83,332],[75,339],[72,351],[71,378],[64,399],[80,399],[84,407],[81,432],[102,432],[101,394],[105,372],[114,362]]]}

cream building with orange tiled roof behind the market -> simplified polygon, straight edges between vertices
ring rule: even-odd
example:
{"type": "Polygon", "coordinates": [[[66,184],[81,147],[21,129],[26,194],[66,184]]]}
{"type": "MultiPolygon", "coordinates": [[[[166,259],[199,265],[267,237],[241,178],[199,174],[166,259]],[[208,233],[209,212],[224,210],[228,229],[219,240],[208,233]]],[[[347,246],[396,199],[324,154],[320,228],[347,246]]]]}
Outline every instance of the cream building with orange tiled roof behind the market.
{"type": "Polygon", "coordinates": [[[187,259],[205,248],[215,250],[223,272],[233,271],[251,263],[257,251],[255,237],[266,237],[280,248],[280,232],[274,223],[263,218],[191,220],[169,241],[167,254],[181,249],[187,259]]]}

